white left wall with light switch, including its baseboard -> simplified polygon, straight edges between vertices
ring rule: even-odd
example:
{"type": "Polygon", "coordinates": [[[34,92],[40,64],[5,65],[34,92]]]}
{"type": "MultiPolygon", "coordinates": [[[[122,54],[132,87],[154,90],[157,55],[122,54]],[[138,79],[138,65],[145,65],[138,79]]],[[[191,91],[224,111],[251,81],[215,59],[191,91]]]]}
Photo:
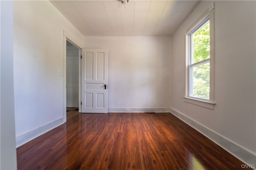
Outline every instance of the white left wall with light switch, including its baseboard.
{"type": "Polygon", "coordinates": [[[83,43],[82,34],[49,1],[14,1],[17,146],[63,123],[63,30],[83,43]]]}

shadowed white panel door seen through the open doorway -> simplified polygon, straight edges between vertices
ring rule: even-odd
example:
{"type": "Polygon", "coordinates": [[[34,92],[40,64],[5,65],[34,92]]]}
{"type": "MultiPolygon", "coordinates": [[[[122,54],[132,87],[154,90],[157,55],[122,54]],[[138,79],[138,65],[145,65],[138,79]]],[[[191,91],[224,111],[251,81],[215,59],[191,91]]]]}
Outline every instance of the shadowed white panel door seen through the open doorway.
{"type": "Polygon", "coordinates": [[[67,81],[67,107],[78,107],[79,105],[79,55],[77,53],[67,54],[66,57],[66,81],[67,81]]]}

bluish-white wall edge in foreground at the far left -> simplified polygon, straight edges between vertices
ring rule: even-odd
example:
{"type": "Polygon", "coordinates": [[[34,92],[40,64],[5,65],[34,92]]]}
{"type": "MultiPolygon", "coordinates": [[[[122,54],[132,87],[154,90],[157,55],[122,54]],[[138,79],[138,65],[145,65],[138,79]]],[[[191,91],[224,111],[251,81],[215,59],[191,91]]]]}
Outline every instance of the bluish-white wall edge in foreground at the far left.
{"type": "Polygon", "coordinates": [[[0,1],[1,53],[0,53],[0,169],[17,169],[14,84],[13,84],[13,2],[0,1]]]}

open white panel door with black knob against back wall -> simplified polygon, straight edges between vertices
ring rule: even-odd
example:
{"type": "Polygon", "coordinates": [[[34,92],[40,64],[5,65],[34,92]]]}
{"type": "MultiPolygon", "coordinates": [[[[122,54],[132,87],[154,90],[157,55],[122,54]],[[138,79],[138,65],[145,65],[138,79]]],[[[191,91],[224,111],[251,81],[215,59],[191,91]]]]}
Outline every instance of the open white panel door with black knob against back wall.
{"type": "Polygon", "coordinates": [[[82,113],[108,113],[108,50],[82,49],[82,113]]]}

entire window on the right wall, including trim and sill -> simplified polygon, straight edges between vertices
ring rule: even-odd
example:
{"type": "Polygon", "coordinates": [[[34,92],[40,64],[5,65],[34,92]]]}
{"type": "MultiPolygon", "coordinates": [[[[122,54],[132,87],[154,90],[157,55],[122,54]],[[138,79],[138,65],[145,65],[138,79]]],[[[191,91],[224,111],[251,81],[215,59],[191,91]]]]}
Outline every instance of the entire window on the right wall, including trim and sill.
{"type": "Polygon", "coordinates": [[[213,109],[214,4],[186,31],[185,102],[213,109]]]}

